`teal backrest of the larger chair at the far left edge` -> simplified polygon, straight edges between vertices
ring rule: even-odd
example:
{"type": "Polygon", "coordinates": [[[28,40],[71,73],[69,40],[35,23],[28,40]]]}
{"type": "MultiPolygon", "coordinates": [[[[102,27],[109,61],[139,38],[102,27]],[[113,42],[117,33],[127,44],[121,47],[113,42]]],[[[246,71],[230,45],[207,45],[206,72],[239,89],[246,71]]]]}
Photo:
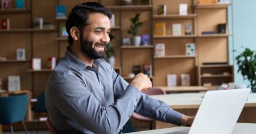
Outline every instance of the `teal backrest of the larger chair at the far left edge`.
{"type": "Polygon", "coordinates": [[[12,124],[24,120],[27,100],[27,94],[0,97],[0,124],[12,124]]]}

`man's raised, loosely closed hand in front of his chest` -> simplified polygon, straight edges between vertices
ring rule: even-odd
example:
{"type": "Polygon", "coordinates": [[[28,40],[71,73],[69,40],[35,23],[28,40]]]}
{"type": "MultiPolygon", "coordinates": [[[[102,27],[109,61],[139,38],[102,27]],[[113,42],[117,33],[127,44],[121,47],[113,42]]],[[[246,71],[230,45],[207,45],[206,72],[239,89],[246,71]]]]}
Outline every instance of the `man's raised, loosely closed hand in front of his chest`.
{"type": "Polygon", "coordinates": [[[134,77],[133,81],[131,82],[131,85],[137,87],[139,91],[142,91],[151,89],[152,82],[150,81],[150,78],[148,78],[146,74],[139,73],[134,77]]]}

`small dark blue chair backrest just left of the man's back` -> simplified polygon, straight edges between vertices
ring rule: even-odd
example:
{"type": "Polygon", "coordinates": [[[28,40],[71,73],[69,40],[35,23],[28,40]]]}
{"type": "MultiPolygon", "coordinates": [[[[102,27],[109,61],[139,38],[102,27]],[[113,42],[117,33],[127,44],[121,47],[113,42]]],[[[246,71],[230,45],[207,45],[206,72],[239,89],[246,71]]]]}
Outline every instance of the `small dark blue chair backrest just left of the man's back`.
{"type": "Polygon", "coordinates": [[[36,101],[35,107],[32,110],[34,112],[47,112],[44,92],[39,95],[38,101],[36,101]]]}

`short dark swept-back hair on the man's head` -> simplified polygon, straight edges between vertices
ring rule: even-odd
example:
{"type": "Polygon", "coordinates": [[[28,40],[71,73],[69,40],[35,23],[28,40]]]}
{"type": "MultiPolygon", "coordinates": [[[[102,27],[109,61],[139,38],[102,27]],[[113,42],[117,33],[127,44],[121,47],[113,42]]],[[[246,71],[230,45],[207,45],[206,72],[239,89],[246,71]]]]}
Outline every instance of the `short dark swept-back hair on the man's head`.
{"type": "Polygon", "coordinates": [[[73,7],[66,22],[66,29],[68,32],[68,43],[70,45],[73,44],[73,38],[70,33],[71,28],[77,27],[81,32],[83,32],[85,26],[89,24],[89,14],[94,12],[102,13],[108,16],[109,19],[112,17],[112,12],[110,11],[110,9],[106,8],[105,6],[97,2],[85,2],[73,7]]]}

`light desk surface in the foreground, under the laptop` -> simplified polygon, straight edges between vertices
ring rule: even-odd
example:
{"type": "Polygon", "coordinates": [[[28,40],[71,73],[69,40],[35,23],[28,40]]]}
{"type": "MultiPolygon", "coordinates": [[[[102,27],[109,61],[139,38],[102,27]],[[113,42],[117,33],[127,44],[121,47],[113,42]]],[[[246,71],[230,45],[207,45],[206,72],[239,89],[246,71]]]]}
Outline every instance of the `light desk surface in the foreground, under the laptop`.
{"type": "MultiPolygon", "coordinates": [[[[160,134],[160,133],[170,133],[175,131],[181,131],[183,129],[188,129],[189,127],[174,127],[174,128],[164,128],[164,129],[155,129],[150,131],[141,131],[141,132],[133,132],[132,134],[160,134]]],[[[233,130],[232,134],[255,134],[256,132],[256,124],[253,123],[237,123],[236,127],[233,130]]]]}

